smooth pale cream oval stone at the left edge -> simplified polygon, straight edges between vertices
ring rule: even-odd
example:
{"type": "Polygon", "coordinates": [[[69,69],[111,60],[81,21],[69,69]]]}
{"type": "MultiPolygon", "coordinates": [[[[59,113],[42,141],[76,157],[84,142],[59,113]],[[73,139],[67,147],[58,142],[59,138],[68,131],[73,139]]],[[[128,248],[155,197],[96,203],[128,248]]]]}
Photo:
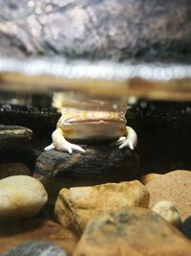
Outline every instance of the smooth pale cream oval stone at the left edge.
{"type": "Polygon", "coordinates": [[[0,180],[0,219],[29,218],[47,202],[44,186],[27,175],[13,175],[0,180]]]}

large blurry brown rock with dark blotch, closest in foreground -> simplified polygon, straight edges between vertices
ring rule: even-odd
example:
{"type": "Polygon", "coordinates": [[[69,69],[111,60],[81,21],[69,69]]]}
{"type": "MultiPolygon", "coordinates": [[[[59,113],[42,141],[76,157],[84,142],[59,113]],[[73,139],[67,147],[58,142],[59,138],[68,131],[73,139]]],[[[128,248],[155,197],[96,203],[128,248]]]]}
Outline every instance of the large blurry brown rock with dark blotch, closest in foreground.
{"type": "Polygon", "coordinates": [[[139,207],[103,212],[88,223],[74,256],[189,256],[191,243],[158,214],[139,207]]]}

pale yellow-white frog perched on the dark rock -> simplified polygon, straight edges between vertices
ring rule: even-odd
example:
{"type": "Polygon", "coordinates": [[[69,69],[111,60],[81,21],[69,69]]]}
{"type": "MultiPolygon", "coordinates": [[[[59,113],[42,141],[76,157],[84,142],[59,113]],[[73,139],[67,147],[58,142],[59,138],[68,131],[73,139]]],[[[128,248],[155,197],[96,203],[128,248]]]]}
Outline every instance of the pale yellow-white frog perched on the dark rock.
{"type": "Polygon", "coordinates": [[[61,117],[53,131],[53,143],[45,151],[85,152],[74,142],[113,141],[119,149],[128,147],[132,151],[138,143],[133,128],[126,126],[124,99],[86,99],[81,95],[54,93],[53,106],[61,117]]]}

